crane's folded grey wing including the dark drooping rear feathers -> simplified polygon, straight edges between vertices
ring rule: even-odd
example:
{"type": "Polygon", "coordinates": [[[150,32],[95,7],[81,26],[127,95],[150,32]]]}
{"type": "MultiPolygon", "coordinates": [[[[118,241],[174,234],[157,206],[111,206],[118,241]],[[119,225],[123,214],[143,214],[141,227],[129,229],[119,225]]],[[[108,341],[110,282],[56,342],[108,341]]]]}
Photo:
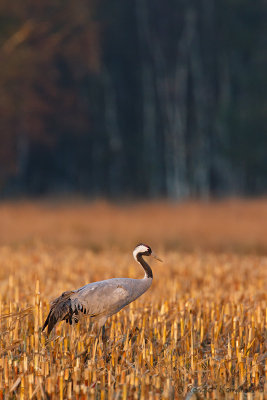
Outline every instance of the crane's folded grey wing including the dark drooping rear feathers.
{"type": "Polygon", "coordinates": [[[90,317],[107,317],[118,312],[130,302],[130,294],[124,286],[107,281],[86,285],[78,290],[64,292],[55,299],[43,325],[48,335],[57,322],[65,320],[72,325],[83,314],[90,317]],[[105,282],[105,283],[104,283],[105,282]]]}

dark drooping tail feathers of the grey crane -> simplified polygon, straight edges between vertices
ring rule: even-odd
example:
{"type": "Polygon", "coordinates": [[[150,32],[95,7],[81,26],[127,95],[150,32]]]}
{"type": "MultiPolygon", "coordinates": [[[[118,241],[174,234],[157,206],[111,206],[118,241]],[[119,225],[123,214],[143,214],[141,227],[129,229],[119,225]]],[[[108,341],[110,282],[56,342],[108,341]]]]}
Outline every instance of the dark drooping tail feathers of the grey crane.
{"type": "Polygon", "coordinates": [[[52,302],[49,314],[45,320],[42,331],[44,331],[45,328],[48,326],[47,334],[49,335],[57,322],[66,319],[65,317],[72,313],[70,299],[72,293],[74,292],[64,292],[60,297],[52,302]]]}

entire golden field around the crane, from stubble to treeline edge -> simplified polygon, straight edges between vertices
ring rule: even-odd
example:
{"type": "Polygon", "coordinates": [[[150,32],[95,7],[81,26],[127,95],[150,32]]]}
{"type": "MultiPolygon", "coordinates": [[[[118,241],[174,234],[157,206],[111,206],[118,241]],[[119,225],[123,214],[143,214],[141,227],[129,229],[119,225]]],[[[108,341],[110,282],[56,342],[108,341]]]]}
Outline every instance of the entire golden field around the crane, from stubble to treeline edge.
{"type": "Polygon", "coordinates": [[[0,399],[264,399],[267,201],[0,205],[0,399]],[[63,291],[142,277],[106,323],[41,326],[63,291]]]}

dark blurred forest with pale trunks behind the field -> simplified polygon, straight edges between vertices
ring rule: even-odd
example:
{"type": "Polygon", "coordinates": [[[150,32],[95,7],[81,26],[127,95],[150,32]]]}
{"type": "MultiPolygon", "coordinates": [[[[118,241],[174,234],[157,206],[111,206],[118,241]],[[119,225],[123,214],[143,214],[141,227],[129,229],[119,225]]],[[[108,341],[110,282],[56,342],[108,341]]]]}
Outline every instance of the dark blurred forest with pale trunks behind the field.
{"type": "Polygon", "coordinates": [[[264,0],[2,0],[0,193],[267,190],[264,0]]]}

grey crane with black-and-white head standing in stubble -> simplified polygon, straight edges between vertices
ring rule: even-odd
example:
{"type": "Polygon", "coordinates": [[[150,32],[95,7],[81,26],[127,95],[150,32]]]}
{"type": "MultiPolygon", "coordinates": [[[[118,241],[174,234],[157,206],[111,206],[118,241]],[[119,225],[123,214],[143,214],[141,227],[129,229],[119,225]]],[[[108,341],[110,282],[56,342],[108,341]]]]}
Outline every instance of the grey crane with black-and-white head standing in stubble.
{"type": "Polygon", "coordinates": [[[80,289],[62,293],[52,302],[42,331],[48,327],[49,335],[59,321],[65,320],[72,325],[82,317],[89,316],[92,318],[92,322],[97,323],[99,330],[102,328],[104,335],[104,324],[107,318],[136,300],[152,284],[153,273],[143,256],[153,256],[162,261],[145,244],[136,246],[133,256],[145,271],[143,279],[112,278],[89,283],[80,289]]]}

